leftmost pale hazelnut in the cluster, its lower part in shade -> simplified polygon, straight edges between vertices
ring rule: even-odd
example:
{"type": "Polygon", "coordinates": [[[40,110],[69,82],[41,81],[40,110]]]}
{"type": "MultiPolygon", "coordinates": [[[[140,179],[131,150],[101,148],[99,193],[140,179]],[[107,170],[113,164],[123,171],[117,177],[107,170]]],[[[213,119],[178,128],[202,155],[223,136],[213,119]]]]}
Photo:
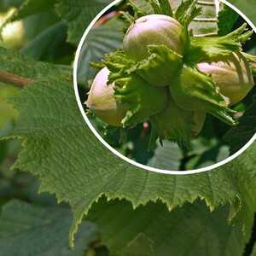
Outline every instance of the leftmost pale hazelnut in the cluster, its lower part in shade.
{"type": "Polygon", "coordinates": [[[108,84],[109,73],[107,67],[97,73],[85,104],[108,125],[122,126],[121,121],[125,118],[127,108],[115,100],[114,84],[108,84]]]}

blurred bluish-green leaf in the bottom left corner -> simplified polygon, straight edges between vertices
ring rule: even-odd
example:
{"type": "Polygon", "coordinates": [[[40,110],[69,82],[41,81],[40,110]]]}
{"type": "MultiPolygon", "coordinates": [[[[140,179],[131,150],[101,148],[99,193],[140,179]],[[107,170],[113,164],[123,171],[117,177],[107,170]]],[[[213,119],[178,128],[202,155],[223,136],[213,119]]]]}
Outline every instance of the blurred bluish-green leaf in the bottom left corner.
{"type": "Polygon", "coordinates": [[[83,256],[98,239],[94,224],[84,222],[75,249],[67,243],[72,222],[70,212],[61,207],[37,207],[22,201],[10,201],[2,207],[0,217],[1,256],[83,256]]]}

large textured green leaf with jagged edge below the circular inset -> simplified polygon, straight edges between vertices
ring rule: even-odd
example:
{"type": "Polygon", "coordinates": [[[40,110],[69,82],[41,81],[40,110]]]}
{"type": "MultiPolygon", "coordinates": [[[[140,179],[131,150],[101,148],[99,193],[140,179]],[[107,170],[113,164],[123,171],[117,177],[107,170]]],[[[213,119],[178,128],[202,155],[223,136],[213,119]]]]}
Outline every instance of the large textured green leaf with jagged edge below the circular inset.
{"type": "MultiPolygon", "coordinates": [[[[108,151],[85,125],[65,69],[0,48],[0,70],[34,79],[12,99],[20,118],[9,137],[23,144],[14,167],[39,177],[41,192],[55,193],[59,202],[71,205],[71,245],[84,214],[102,195],[125,198],[133,207],[160,200],[169,209],[201,198],[211,209],[230,204],[237,216],[248,200],[247,189],[256,187],[256,144],[214,172],[172,176],[144,171],[108,151]]],[[[254,197],[249,199],[254,209],[254,197]]]]}

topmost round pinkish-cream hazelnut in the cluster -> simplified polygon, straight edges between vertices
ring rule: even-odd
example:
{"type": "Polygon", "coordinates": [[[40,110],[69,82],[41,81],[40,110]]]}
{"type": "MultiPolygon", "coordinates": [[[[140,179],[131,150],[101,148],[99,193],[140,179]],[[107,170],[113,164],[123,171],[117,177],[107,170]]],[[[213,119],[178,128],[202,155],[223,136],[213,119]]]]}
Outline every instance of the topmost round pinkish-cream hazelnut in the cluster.
{"type": "Polygon", "coordinates": [[[183,55],[183,27],[167,15],[146,15],[139,18],[125,34],[125,53],[136,61],[142,61],[148,57],[149,45],[165,45],[183,55]]]}

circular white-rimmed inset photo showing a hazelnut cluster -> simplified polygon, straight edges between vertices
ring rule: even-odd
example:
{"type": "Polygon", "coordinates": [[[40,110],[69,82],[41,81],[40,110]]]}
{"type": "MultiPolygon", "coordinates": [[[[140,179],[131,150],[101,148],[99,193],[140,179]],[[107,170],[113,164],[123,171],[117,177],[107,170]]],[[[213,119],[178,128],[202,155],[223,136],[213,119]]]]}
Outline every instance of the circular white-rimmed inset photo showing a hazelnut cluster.
{"type": "Polygon", "coordinates": [[[87,125],[149,171],[203,172],[235,159],[255,138],[254,29],[226,1],[111,3],[76,56],[87,125]]]}

